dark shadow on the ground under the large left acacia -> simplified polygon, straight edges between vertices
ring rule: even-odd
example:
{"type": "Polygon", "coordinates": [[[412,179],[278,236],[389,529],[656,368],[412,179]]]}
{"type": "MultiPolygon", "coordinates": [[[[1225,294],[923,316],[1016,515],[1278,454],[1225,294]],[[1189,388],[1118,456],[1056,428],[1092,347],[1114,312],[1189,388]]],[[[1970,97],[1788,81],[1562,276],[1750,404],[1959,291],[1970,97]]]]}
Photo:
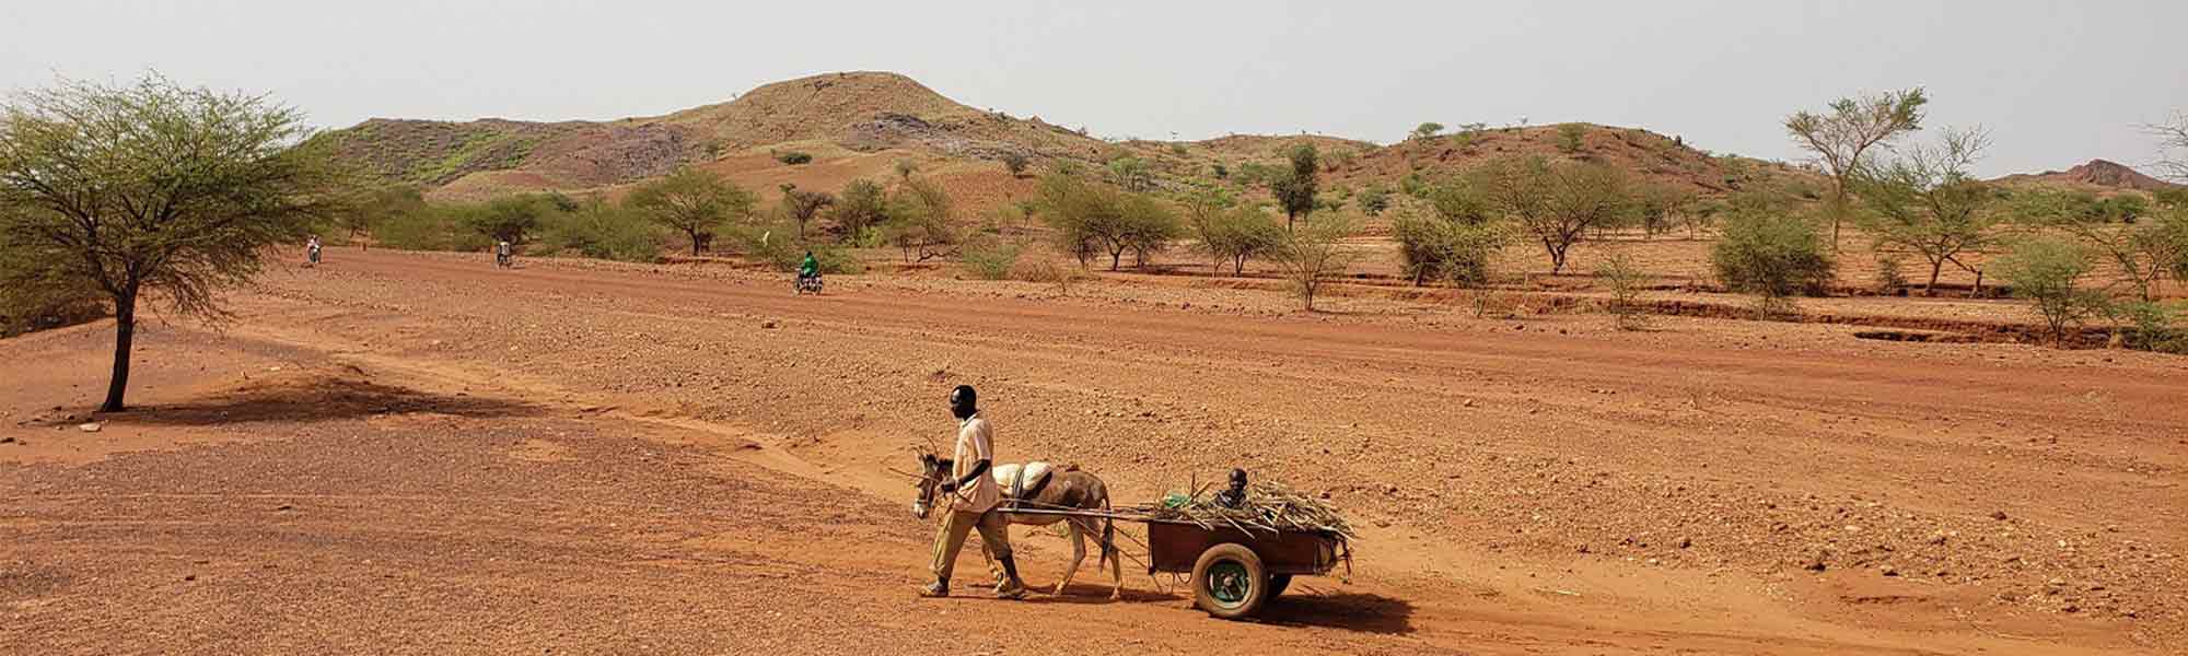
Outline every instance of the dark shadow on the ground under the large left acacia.
{"type": "Polygon", "coordinates": [[[245,422],[328,422],[370,415],[442,413],[459,418],[536,415],[536,405],[468,394],[431,394],[350,376],[252,383],[206,400],[138,405],[98,418],[116,424],[210,426],[245,422]]]}

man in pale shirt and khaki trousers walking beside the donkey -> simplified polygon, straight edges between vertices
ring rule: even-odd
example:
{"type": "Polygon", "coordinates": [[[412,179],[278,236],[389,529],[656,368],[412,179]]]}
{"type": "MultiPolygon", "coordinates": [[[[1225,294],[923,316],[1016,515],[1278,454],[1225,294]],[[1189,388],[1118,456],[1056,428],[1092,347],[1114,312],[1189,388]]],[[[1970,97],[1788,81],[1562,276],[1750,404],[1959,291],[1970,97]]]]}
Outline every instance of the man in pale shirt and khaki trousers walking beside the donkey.
{"type": "Polygon", "coordinates": [[[934,534],[934,584],[919,590],[919,597],[950,597],[950,573],[956,571],[956,553],[965,547],[965,534],[978,529],[980,542],[1002,564],[1004,582],[996,584],[996,599],[1024,599],[1026,582],[1017,579],[1017,562],[1011,560],[1009,520],[996,512],[1002,490],[989,466],[996,459],[993,429],[980,420],[980,398],[971,385],[950,391],[950,413],[958,420],[956,457],[950,481],[941,481],[941,492],[950,494],[950,514],[934,534]]]}

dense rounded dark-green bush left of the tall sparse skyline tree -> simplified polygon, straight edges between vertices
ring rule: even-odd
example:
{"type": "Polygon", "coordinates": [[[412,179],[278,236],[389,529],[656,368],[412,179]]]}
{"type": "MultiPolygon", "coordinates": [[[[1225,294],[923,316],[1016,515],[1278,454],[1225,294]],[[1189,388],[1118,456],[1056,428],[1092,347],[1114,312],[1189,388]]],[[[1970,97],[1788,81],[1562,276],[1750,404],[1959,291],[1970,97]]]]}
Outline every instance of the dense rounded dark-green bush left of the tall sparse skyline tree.
{"type": "Polygon", "coordinates": [[[1724,225],[1709,265],[1726,289],[1759,295],[1764,315],[1785,311],[1796,293],[1820,295],[1836,276],[1829,247],[1807,219],[1744,212],[1724,225]]]}

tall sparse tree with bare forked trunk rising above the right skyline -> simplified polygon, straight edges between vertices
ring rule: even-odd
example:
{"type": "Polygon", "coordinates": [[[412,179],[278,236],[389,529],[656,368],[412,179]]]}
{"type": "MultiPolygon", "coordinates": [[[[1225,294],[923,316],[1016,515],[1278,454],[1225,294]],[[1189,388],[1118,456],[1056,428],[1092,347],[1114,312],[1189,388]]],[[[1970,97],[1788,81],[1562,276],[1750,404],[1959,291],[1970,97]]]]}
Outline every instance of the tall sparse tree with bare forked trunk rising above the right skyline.
{"type": "Polygon", "coordinates": [[[1869,166],[1873,149],[1890,149],[1899,136],[1921,129],[1921,107],[1930,96],[1921,87],[1862,98],[1838,98],[1823,114],[1796,112],[1785,118],[1785,131],[1831,175],[1825,210],[1831,216],[1831,249],[1838,249],[1838,225],[1847,219],[1853,175],[1869,166]]]}

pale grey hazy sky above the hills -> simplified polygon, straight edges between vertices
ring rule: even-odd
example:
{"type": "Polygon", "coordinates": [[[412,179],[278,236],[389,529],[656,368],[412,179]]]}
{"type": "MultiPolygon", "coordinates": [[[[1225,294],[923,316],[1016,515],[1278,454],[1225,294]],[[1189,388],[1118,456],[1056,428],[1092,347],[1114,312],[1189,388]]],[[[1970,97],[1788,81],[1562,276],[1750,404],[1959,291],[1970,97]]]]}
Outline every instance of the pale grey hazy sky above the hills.
{"type": "Polygon", "coordinates": [[[621,118],[834,70],[1098,136],[1389,142],[1422,120],[1648,127],[1799,160],[1779,127],[1925,85],[1982,173],[2157,157],[2188,0],[2109,2],[94,2],[0,7],[0,87],[142,70],[313,122],[621,118]]]}

